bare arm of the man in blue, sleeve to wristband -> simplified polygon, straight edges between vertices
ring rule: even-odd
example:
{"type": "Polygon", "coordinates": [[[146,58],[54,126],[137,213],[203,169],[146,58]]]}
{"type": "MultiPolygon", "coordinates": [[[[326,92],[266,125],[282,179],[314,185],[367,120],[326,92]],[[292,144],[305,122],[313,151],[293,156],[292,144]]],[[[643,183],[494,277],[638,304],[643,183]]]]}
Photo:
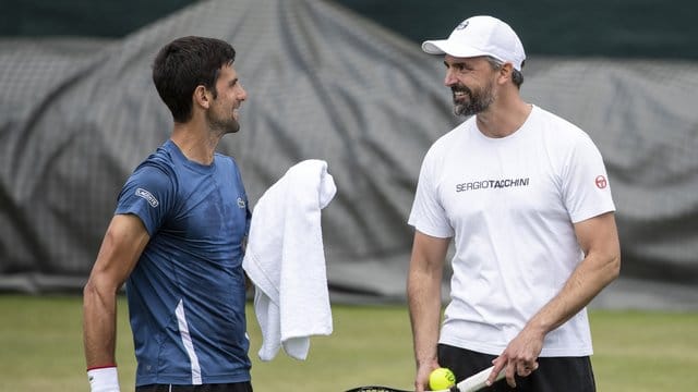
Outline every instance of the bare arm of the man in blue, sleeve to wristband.
{"type": "Polygon", "coordinates": [[[83,343],[87,368],[115,365],[117,292],[135,267],[149,235],[140,218],[117,215],[107,229],[83,290],[83,343]]]}

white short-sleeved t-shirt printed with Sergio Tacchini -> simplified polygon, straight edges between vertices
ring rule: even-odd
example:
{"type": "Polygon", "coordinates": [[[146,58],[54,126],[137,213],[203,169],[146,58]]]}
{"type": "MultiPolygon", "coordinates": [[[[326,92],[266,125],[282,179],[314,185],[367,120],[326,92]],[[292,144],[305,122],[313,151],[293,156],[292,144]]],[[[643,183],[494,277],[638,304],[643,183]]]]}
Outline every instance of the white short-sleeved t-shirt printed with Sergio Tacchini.
{"type": "MultiPolygon", "coordinates": [[[[614,211],[601,154],[569,122],[533,107],[514,134],[472,117],[428,151],[409,224],[455,236],[440,342],[498,355],[583,258],[573,223],[614,211]]],[[[586,309],[545,336],[541,356],[591,355],[586,309]]]]}

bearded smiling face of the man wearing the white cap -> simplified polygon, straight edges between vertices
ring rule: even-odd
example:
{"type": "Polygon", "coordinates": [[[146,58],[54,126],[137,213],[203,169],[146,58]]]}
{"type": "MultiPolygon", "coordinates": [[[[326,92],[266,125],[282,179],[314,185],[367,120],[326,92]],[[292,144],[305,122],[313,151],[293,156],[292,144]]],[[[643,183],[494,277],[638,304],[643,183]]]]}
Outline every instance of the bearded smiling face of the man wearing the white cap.
{"type": "Polygon", "coordinates": [[[446,54],[446,78],[450,87],[456,115],[472,115],[488,110],[495,100],[496,75],[484,57],[455,58],[446,54]]]}

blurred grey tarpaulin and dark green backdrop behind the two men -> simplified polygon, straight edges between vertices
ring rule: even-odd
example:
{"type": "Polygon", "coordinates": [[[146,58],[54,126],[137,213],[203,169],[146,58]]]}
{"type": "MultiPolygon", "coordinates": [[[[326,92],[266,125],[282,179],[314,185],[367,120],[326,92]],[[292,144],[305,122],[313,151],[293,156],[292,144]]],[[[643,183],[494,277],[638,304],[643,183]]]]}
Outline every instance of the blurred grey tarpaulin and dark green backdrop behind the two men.
{"type": "Polygon", "coordinates": [[[623,270],[593,305],[698,308],[689,0],[4,0],[0,292],[80,293],[121,185],[171,130],[151,62],[171,39],[204,35],[238,51],[250,97],[220,150],[251,204],[294,163],[326,160],[338,187],[323,210],[330,298],[401,303],[421,160],[462,121],[442,59],[420,44],[476,14],[521,38],[525,99],[604,156],[623,270]]]}

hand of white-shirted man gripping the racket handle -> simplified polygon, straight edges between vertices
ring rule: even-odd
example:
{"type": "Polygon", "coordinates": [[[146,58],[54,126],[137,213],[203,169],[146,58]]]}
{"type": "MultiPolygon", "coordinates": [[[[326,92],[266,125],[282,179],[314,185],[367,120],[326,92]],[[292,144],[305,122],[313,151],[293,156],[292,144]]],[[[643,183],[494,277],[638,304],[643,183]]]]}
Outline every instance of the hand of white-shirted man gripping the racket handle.
{"type": "Polygon", "coordinates": [[[543,333],[535,332],[528,328],[519,332],[519,334],[509,342],[504,352],[492,360],[494,369],[490,378],[488,378],[488,384],[492,384],[496,375],[504,369],[506,383],[512,388],[516,388],[515,375],[528,377],[538,369],[538,356],[543,348],[544,338],[545,335],[543,333]]]}

